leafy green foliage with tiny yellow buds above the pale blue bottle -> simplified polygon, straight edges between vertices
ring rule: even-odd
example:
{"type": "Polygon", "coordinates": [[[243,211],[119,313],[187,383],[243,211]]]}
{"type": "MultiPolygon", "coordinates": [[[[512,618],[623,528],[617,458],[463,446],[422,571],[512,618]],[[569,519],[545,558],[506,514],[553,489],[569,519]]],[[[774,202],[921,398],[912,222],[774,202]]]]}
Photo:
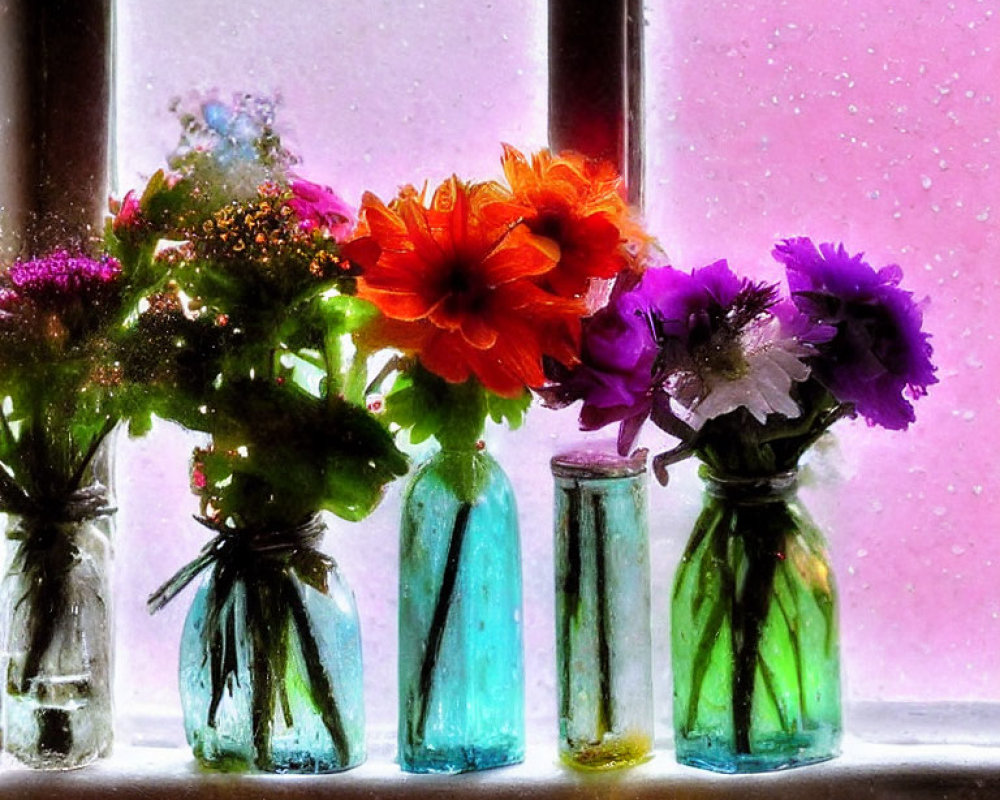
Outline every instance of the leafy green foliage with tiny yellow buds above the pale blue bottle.
{"type": "Polygon", "coordinates": [[[132,271],[167,265],[123,343],[135,388],[120,411],[133,433],[155,415],[211,436],[195,477],[217,524],[280,527],[320,509],[357,520],[406,471],[357,404],[345,347],[373,309],[337,242],[294,216],[290,157],[261,119],[257,139],[230,141],[184,118],[173,174],[153,176],[130,224],[109,226],[132,271]]]}

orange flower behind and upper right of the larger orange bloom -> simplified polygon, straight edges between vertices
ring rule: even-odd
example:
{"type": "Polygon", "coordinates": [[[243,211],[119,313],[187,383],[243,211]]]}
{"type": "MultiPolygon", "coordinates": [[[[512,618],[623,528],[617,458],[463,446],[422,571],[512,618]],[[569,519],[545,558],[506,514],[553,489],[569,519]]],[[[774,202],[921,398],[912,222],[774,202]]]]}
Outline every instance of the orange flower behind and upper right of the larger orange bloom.
{"type": "Polygon", "coordinates": [[[485,184],[479,198],[483,216],[494,225],[521,219],[532,233],[559,245],[559,263],[544,285],[564,297],[580,297],[591,278],[613,278],[627,266],[629,210],[621,178],[609,162],[578,153],[553,157],[542,150],[529,163],[504,145],[503,169],[510,189],[485,184]]]}

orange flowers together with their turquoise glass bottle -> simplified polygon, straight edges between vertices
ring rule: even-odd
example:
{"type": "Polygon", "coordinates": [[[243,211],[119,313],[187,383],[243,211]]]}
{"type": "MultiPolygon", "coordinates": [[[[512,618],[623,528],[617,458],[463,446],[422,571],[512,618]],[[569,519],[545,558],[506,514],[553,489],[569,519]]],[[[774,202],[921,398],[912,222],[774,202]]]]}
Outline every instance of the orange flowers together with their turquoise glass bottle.
{"type": "Polygon", "coordinates": [[[517,427],[546,360],[576,363],[588,293],[631,259],[634,223],[610,166],[505,147],[503,167],[506,184],[452,177],[388,205],[366,194],[352,243],[358,295],[379,311],[363,340],[402,353],[369,389],[394,375],[386,419],[442,447],[403,509],[399,736],[411,771],[523,756],[516,510],[480,437],[487,417],[517,427]]]}

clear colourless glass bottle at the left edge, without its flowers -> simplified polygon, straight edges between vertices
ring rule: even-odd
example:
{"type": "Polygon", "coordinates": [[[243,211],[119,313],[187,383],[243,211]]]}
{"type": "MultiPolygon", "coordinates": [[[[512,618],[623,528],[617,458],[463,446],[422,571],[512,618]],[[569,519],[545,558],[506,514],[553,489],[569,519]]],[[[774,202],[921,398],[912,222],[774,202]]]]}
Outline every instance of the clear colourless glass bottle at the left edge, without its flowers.
{"type": "Polygon", "coordinates": [[[111,751],[111,510],[99,485],[58,509],[9,514],[3,749],[40,769],[111,751]]]}

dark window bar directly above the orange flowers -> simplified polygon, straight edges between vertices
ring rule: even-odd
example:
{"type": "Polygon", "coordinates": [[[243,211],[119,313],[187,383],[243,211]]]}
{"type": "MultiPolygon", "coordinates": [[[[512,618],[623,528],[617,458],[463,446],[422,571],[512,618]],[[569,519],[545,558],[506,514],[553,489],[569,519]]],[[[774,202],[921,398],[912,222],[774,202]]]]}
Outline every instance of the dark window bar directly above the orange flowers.
{"type": "Polygon", "coordinates": [[[606,158],[642,199],[642,0],[549,0],[549,143],[606,158]]]}

